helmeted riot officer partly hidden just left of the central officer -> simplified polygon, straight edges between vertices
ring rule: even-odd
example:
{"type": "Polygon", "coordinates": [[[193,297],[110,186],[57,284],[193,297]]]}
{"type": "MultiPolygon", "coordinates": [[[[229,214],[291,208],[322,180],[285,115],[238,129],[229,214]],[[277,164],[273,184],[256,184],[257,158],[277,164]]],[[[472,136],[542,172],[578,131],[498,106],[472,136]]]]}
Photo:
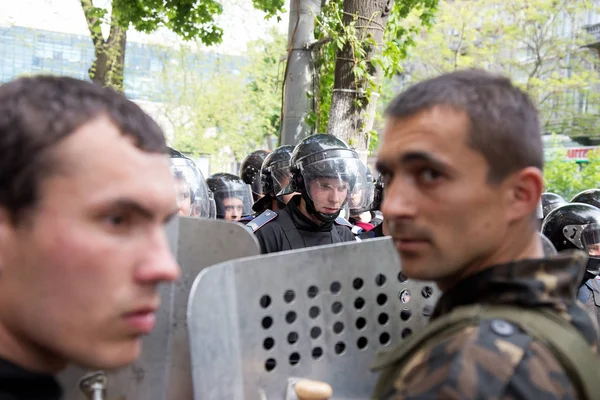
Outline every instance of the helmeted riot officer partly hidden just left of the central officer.
{"type": "Polygon", "coordinates": [[[278,196],[290,183],[290,159],[294,146],[280,146],[267,155],[260,170],[262,197],[254,202],[252,209],[261,214],[266,210],[282,210],[292,194],[278,196]]]}

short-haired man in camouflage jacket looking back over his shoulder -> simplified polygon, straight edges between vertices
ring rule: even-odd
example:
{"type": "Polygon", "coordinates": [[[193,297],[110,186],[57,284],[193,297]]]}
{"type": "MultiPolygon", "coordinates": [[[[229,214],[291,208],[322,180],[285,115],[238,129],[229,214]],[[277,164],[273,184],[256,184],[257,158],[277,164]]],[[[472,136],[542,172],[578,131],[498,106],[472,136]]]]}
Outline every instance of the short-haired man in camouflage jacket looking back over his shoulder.
{"type": "MultiPolygon", "coordinates": [[[[403,273],[443,291],[432,321],[470,305],[551,310],[596,352],[597,326],[576,301],[587,256],[542,258],[543,150],[528,96],[504,77],[458,71],[409,88],[386,116],[384,223],[403,273]]],[[[548,346],[503,319],[481,318],[408,362],[388,354],[376,366],[378,399],[577,398],[548,346]]]]}

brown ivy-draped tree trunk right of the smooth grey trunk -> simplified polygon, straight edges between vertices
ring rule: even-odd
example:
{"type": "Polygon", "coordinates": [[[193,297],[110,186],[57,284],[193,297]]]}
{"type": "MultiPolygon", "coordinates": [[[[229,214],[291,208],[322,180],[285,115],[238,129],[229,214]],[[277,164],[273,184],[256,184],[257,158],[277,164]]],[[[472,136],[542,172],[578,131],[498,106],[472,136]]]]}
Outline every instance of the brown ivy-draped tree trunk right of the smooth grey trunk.
{"type": "MultiPolygon", "coordinates": [[[[377,44],[366,49],[367,61],[381,51],[391,2],[392,0],[344,0],[344,25],[349,26],[357,16],[355,26],[358,40],[371,37],[377,44]]],[[[337,51],[327,133],[346,141],[366,161],[369,132],[373,129],[379,95],[372,93],[370,101],[367,101],[366,82],[354,74],[355,59],[352,43],[346,43],[342,50],[337,51]]],[[[379,68],[370,62],[368,68],[369,73],[379,80],[379,68]]]]}

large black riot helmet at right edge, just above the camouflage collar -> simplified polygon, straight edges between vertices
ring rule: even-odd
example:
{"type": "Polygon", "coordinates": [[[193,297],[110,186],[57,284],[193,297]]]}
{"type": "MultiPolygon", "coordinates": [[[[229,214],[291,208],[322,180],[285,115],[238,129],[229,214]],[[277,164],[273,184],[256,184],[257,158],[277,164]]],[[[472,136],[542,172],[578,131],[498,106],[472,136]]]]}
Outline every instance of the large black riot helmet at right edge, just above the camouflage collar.
{"type": "Polygon", "coordinates": [[[542,233],[559,252],[588,253],[586,280],[600,274],[600,209],[583,203],[560,206],[546,216],[542,233]]]}

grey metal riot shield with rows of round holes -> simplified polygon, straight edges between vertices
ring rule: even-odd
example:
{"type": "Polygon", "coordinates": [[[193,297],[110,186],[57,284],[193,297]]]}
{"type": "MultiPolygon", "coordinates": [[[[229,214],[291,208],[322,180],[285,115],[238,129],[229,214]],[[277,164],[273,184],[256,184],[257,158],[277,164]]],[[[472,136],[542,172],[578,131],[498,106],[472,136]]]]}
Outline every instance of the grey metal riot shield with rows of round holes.
{"type": "Polygon", "coordinates": [[[369,398],[376,353],[418,332],[437,297],[401,273],[389,238],[207,268],[188,306],[194,399],[285,399],[289,378],[369,398]]]}

